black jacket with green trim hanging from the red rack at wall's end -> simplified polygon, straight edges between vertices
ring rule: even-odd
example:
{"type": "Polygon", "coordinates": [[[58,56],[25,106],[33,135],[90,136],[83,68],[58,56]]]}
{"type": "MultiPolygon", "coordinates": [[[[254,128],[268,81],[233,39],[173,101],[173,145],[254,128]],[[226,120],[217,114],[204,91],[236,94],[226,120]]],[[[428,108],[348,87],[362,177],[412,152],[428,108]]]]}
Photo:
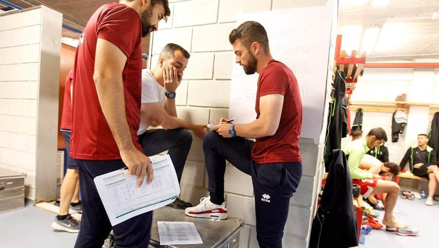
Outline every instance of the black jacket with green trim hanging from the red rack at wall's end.
{"type": "Polygon", "coordinates": [[[332,101],[329,104],[328,124],[325,138],[325,170],[332,161],[332,150],[341,149],[341,138],[343,136],[343,106],[342,100],[346,94],[346,74],[338,70],[334,81],[334,92],[332,101]]]}

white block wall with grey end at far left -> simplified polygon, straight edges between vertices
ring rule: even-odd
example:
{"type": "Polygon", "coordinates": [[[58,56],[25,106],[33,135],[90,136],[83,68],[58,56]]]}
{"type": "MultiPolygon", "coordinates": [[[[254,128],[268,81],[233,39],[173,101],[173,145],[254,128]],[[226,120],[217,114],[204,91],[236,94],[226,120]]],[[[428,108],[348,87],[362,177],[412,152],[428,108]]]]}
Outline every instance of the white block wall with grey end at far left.
{"type": "Polygon", "coordinates": [[[32,199],[55,196],[61,23],[46,7],[0,15],[0,167],[26,173],[32,199]]]}

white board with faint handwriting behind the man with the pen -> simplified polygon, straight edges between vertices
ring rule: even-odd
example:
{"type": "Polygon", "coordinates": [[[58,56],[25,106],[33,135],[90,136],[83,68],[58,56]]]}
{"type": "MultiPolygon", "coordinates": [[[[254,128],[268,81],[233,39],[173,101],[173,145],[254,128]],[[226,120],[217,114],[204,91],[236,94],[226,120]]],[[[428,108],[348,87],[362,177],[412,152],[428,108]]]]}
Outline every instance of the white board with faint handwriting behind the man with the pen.
{"type": "MultiPolygon", "coordinates": [[[[333,21],[332,6],[316,6],[243,14],[237,25],[257,21],[267,31],[271,55],[293,71],[302,97],[301,137],[319,143],[325,108],[328,58],[333,21]]],[[[229,117],[249,123],[254,110],[258,74],[245,75],[239,64],[232,70],[229,117]]]]}

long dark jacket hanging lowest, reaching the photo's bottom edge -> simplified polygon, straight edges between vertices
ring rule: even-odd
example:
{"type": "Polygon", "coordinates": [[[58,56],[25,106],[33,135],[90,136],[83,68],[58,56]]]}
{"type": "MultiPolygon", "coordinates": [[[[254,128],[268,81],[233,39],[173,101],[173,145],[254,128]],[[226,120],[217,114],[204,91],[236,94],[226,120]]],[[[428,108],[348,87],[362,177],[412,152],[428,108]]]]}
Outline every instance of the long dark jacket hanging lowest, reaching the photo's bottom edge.
{"type": "Polygon", "coordinates": [[[321,203],[312,223],[309,248],[358,246],[349,166],[342,150],[334,150],[332,156],[321,203]]]}

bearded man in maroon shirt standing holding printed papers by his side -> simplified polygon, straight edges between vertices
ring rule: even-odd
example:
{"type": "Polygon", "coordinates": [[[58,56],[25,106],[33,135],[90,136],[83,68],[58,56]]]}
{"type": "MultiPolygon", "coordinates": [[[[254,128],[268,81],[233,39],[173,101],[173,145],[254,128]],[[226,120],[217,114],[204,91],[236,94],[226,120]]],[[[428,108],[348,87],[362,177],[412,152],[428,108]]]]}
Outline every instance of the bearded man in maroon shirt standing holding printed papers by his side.
{"type": "MultiPolygon", "coordinates": [[[[121,0],[90,17],[76,50],[70,154],[79,166],[83,200],[75,248],[101,247],[111,224],[93,179],[128,167],[141,185],[150,159],[137,140],[140,123],[141,38],[170,15],[168,0],[121,0]]],[[[147,247],[152,213],[113,227],[116,247],[147,247]]]]}

